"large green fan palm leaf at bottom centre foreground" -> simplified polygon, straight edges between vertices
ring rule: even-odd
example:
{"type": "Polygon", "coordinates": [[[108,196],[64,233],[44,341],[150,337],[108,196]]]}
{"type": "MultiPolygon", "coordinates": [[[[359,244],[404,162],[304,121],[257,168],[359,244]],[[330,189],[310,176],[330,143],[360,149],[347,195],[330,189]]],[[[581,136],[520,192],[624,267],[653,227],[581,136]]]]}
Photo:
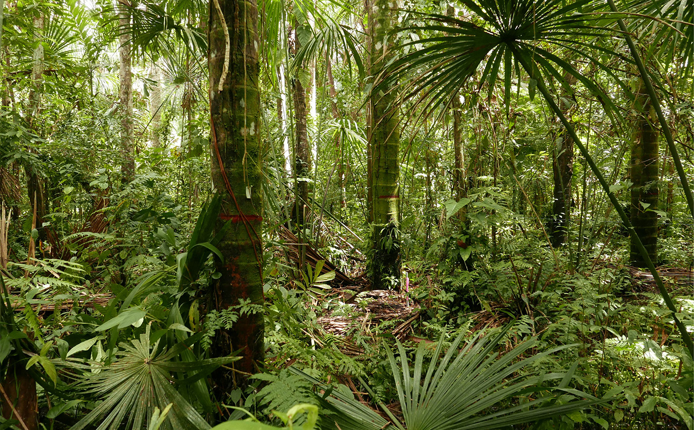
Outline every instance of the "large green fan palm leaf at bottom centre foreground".
{"type": "MultiPolygon", "coordinates": [[[[507,354],[496,350],[508,330],[495,336],[478,334],[462,347],[464,333],[457,336],[443,354],[444,338],[437,343],[432,361],[425,365],[427,347],[422,342],[410,367],[405,348],[397,342],[397,354],[387,349],[395,379],[403,423],[395,427],[408,430],[498,429],[523,422],[579,411],[602,402],[591,395],[568,388],[575,366],[568,372],[535,374],[529,367],[542,358],[566,347],[556,347],[539,354],[526,354],[536,346],[535,340],[522,342],[507,354]],[[439,361],[439,357],[443,358],[439,361]],[[527,357],[523,358],[524,355],[527,357]],[[541,387],[544,381],[561,379],[557,387],[541,387]],[[587,398],[556,404],[552,392],[569,393],[587,398]],[[518,395],[532,393],[534,400],[508,406],[518,395]],[[544,394],[544,395],[543,395],[544,394]]],[[[348,390],[334,390],[328,397],[330,406],[341,413],[341,429],[383,429],[387,422],[370,408],[357,402],[348,390]],[[347,417],[347,419],[345,418],[347,417]]],[[[385,406],[384,412],[389,414],[385,406]]],[[[390,415],[390,414],[389,414],[390,415]]],[[[391,416],[391,420],[394,417],[391,416]]]]}

